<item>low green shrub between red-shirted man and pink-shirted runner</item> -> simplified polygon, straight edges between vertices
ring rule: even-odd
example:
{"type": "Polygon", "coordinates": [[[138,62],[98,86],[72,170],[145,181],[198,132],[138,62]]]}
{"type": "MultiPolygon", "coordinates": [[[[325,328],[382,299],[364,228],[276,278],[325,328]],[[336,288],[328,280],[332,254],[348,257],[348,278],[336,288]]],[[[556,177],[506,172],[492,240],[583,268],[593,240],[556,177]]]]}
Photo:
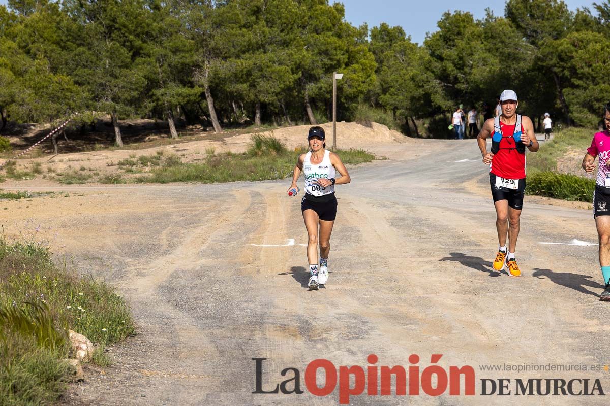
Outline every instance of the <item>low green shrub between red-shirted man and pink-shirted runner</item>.
{"type": "Polygon", "coordinates": [[[555,172],[536,172],[528,176],[526,192],[563,200],[591,201],[595,180],[555,172]]]}

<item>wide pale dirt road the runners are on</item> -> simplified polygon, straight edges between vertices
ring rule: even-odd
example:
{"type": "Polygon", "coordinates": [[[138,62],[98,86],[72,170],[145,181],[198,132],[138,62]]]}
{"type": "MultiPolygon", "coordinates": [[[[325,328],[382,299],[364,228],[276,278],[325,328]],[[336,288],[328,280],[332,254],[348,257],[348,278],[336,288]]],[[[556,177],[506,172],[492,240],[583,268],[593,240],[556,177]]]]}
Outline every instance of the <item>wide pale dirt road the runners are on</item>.
{"type": "Polygon", "coordinates": [[[306,288],[306,232],[300,199],[285,195],[289,181],[60,187],[70,196],[4,203],[9,233],[38,224],[57,233],[54,251],[117,285],[137,320],[140,334],[112,349],[117,365],[90,370],[66,402],[333,405],[338,389],[317,397],[305,388],[312,360],[365,368],[376,354],[379,366],[406,368],[418,354],[423,371],[431,354],[443,354],[447,371],[474,368],[476,396],[362,394],[351,404],[601,404],[604,396],[479,396],[481,379],[501,378],[512,380],[512,395],[517,378],[600,379],[610,391],[603,369],[480,368],[610,363],[597,247],[545,244],[597,242],[591,212],[526,198],[523,276],[498,275],[490,271],[495,213],[475,141],[396,144],[392,156],[350,169],[352,183],[337,187],[332,273],[317,292],[306,288]],[[305,393],[252,394],[254,357],[267,358],[265,390],[293,367],[305,393]]]}

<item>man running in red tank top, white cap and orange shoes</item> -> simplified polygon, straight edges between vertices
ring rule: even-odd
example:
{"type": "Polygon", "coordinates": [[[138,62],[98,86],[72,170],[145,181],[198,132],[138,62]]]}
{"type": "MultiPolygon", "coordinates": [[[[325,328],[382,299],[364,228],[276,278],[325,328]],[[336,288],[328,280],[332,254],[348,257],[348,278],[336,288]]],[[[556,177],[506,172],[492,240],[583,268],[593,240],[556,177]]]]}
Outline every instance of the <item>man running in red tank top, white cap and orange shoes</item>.
{"type": "Polygon", "coordinates": [[[525,197],[525,147],[536,152],[540,144],[534,135],[529,117],[517,114],[517,94],[504,90],[500,95],[502,114],[483,124],[477,137],[483,163],[489,165],[489,183],[496,209],[498,253],[493,270],[508,268],[511,276],[521,276],[515,259],[519,220],[525,197]],[[492,138],[492,151],[487,152],[487,138],[492,138]],[[508,250],[506,236],[508,234],[508,250]]]}

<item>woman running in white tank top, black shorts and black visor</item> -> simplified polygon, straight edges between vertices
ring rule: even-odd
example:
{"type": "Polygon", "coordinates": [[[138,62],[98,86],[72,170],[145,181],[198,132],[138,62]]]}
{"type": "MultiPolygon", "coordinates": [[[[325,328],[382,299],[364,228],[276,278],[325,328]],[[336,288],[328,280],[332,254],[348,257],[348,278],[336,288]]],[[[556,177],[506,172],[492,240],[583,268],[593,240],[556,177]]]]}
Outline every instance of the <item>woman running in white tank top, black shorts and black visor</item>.
{"type": "Polygon", "coordinates": [[[303,153],[296,161],[292,184],[288,192],[297,188],[296,181],[305,177],[305,195],[301,200],[301,212],[307,229],[307,261],[311,274],[307,287],[318,290],[319,285],[328,280],[328,254],[331,250],[332,226],[337,216],[335,185],[350,183],[350,174],[339,155],[326,150],[326,136],[322,127],[309,128],[309,152],[303,153]],[[339,178],[335,173],[339,172],[339,178]],[[318,229],[319,226],[319,229],[318,229]],[[320,245],[320,267],[318,268],[318,244],[320,245]]]}

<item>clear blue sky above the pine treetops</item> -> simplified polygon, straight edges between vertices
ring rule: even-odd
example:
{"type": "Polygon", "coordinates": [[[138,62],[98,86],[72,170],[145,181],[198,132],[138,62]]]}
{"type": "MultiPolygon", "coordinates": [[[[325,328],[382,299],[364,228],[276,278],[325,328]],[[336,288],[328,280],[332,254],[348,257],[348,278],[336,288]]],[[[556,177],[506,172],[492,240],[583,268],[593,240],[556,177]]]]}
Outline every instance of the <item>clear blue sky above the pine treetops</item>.
{"type": "MultiPolygon", "coordinates": [[[[595,0],[565,0],[571,10],[578,7],[589,7],[595,0]]],[[[334,2],[334,0],[329,0],[334,2]]],[[[345,4],[345,19],[360,26],[379,26],[381,23],[390,26],[401,26],[412,41],[422,43],[427,32],[437,30],[436,23],[443,12],[462,10],[472,13],[475,18],[483,18],[489,7],[495,15],[504,15],[504,0],[469,0],[464,2],[451,0],[342,0],[345,4]]],[[[597,0],[601,2],[601,0],[597,0]]],[[[0,4],[6,4],[0,0],[0,4]]]]}

